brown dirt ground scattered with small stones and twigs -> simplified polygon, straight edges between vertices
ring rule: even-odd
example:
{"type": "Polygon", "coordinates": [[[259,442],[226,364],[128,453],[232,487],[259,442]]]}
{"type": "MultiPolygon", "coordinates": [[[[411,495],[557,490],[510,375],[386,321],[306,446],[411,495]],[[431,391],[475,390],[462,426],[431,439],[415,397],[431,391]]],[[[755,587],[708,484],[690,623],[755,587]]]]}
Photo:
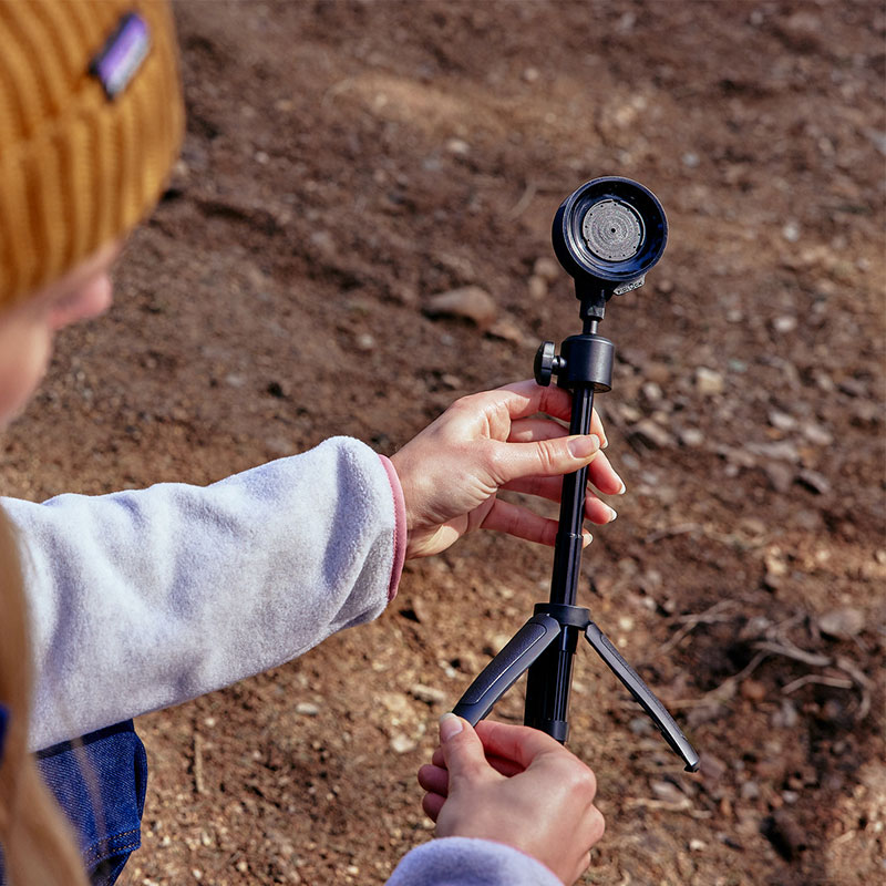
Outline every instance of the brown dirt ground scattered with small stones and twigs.
{"type": "MultiPolygon", "coordinates": [[[[628,491],[579,602],[702,767],[581,650],[569,746],[607,817],[583,883],[883,882],[883,3],[190,0],[177,18],[183,158],[114,309],[62,337],[6,437],[4,490],[202,484],[333,433],[391,453],[580,331],[553,215],[589,178],[636,178],[670,239],[601,328],[628,491]],[[466,286],[494,317],[431,316],[466,286]]],[[[122,882],[383,883],[432,836],[414,773],[436,719],[549,575],[547,549],[480,533],[410,562],[377,622],[143,717],[122,882]]],[[[495,715],[518,722],[521,692],[495,715]]]]}

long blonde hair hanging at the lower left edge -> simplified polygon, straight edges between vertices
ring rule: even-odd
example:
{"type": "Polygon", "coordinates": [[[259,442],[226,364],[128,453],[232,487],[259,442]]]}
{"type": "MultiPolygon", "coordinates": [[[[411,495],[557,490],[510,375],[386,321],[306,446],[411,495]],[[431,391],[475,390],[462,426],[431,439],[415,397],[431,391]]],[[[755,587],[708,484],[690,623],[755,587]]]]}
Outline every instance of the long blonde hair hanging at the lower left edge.
{"type": "Polygon", "coordinates": [[[16,532],[0,508],[0,702],[9,729],[0,761],[0,845],[11,886],[87,886],[73,833],[28,753],[31,645],[16,532]]]}

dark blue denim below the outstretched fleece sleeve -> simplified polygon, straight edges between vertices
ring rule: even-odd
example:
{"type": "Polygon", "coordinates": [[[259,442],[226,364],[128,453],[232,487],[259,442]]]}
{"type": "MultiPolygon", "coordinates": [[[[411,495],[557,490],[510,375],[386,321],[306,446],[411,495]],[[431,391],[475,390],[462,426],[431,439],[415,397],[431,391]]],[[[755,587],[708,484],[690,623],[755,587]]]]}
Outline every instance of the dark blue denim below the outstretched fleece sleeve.
{"type": "Polygon", "coordinates": [[[40,751],[37,762],[74,826],[93,886],[111,886],[142,843],[147,755],[132,720],[40,751]]]}

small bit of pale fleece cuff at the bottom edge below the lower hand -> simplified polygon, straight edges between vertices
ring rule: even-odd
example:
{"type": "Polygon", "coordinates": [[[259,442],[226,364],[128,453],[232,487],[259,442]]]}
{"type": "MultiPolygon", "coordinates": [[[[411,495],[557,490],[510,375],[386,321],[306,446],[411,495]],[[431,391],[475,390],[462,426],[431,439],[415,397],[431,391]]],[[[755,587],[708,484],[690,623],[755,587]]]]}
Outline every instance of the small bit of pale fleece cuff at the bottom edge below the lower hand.
{"type": "Polygon", "coordinates": [[[563,886],[563,882],[511,846],[444,837],[404,855],[387,886],[563,886]]]}

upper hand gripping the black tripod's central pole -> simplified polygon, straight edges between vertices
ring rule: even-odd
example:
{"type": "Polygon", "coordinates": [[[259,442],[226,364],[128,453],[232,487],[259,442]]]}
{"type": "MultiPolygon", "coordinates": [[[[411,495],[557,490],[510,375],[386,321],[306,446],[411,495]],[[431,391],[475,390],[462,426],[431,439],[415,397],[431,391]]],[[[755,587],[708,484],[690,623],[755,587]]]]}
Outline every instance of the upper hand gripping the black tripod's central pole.
{"type": "MultiPolygon", "coordinates": [[[[600,492],[624,492],[598,452],[606,437],[596,411],[587,436],[569,436],[553,419],[529,418],[543,412],[568,422],[570,410],[571,398],[562,388],[517,382],[456,400],[406,443],[391,457],[406,503],[406,557],[439,554],[480,527],[553,545],[557,521],[501,501],[498,490],[558,502],[562,475],[589,464],[588,477],[600,492]]],[[[615,514],[588,495],[589,521],[608,523],[615,514]]]]}

